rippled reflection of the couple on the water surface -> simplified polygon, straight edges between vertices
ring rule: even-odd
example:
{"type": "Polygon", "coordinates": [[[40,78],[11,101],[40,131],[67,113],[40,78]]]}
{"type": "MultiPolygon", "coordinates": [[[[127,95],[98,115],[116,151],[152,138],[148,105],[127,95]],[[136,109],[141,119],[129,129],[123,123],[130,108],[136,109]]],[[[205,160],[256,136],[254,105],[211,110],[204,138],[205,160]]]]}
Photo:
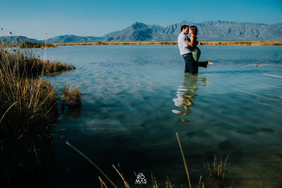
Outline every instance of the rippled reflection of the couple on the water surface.
{"type": "MultiPolygon", "coordinates": [[[[177,98],[173,99],[175,106],[182,108],[182,110],[172,110],[172,112],[179,115],[188,116],[191,113],[191,107],[195,106],[194,100],[198,96],[198,85],[207,86],[207,79],[205,77],[198,77],[198,75],[191,75],[185,73],[182,86],[179,86],[176,91],[177,98]],[[197,84],[198,82],[198,84],[197,84]]],[[[188,118],[177,118],[183,122],[189,122],[188,118]]]]}

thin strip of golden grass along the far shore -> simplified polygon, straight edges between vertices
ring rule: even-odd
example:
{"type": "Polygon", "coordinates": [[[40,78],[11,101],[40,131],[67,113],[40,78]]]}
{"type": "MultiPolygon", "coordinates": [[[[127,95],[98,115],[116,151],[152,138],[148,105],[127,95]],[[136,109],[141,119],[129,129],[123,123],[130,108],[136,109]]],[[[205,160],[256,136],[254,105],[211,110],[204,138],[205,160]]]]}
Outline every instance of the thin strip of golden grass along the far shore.
{"type": "MultiPolygon", "coordinates": [[[[157,45],[176,45],[177,42],[77,42],[77,43],[52,43],[54,46],[69,45],[114,45],[114,44],[157,44],[157,45]]],[[[200,41],[199,45],[243,45],[243,46],[271,46],[282,45],[282,41],[218,41],[208,42],[200,41]]]]}

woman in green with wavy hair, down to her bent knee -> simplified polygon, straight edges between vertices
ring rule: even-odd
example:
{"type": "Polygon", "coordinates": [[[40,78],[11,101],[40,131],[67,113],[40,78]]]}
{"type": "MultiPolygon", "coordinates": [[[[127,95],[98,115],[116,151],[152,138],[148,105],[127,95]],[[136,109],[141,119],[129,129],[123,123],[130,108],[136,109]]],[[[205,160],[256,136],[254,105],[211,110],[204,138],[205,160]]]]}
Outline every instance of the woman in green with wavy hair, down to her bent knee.
{"type": "Polygon", "coordinates": [[[182,40],[187,41],[189,46],[191,46],[189,49],[191,50],[193,54],[193,58],[196,62],[199,61],[200,55],[201,55],[201,50],[196,46],[198,43],[197,41],[197,34],[198,34],[198,28],[195,25],[192,25],[189,28],[189,34],[191,34],[190,41],[187,41],[185,37],[182,38],[182,40]]]}

